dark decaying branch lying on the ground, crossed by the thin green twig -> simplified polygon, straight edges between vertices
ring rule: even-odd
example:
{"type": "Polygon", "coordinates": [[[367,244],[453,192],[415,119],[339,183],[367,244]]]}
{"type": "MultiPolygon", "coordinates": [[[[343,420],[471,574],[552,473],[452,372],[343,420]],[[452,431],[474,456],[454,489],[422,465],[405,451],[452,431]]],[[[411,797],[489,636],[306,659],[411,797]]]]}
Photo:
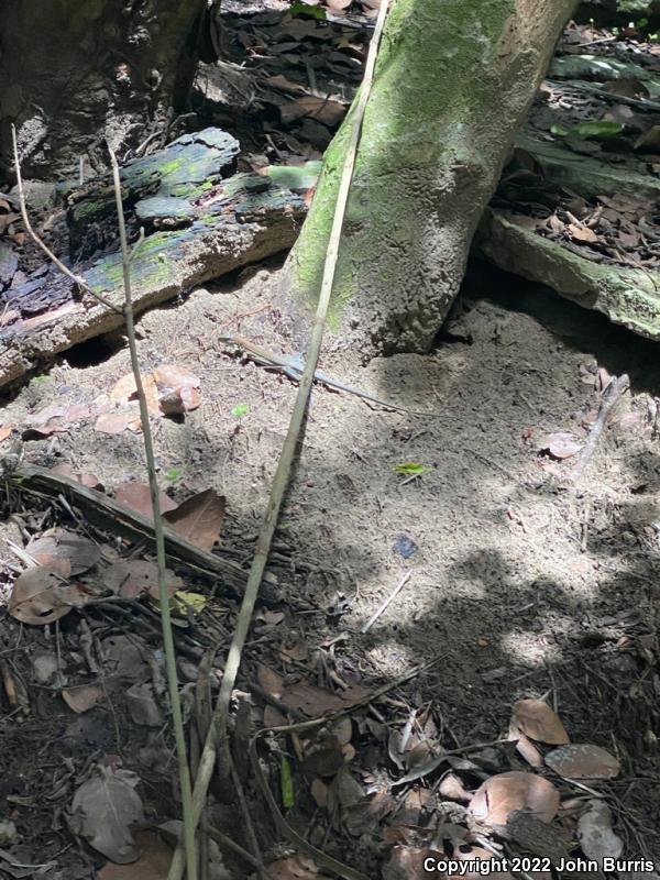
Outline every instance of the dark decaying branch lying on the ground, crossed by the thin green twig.
{"type": "MultiPolygon", "coordinates": [[[[73,506],[85,514],[89,522],[98,528],[120,535],[131,541],[142,541],[150,549],[154,548],[154,527],[151,520],[113,498],[82,486],[68,476],[54,474],[35,464],[23,464],[11,475],[11,482],[22,492],[32,492],[54,498],[64,495],[73,506]]],[[[218,578],[220,592],[229,593],[232,596],[243,594],[248,575],[234,562],[200,550],[167,527],[165,528],[165,548],[167,556],[172,559],[180,560],[206,575],[218,578]]]]}

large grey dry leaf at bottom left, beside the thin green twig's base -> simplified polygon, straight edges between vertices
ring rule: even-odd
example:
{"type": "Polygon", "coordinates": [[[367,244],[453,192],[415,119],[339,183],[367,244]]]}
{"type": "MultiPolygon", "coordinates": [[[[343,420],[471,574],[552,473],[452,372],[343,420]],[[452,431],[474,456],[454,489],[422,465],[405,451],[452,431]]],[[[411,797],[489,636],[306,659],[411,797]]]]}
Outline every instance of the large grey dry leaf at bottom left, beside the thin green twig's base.
{"type": "Polygon", "coordinates": [[[74,795],[69,823],[75,834],[102,853],[127,865],[140,857],[130,826],[144,820],[135,791],[140,777],[130,770],[97,765],[94,776],[74,795]]]}

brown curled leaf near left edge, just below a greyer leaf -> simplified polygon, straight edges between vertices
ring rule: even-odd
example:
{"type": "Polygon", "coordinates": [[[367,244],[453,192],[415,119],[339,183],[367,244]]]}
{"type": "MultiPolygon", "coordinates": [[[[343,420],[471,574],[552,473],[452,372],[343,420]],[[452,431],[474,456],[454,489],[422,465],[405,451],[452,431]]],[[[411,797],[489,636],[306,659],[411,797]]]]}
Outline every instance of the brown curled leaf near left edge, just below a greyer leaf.
{"type": "Polygon", "coordinates": [[[59,574],[40,565],[28,569],[14,581],[9,613],[23,624],[45,626],[59,620],[72,608],[81,607],[90,598],[81,584],[63,583],[59,574]]]}

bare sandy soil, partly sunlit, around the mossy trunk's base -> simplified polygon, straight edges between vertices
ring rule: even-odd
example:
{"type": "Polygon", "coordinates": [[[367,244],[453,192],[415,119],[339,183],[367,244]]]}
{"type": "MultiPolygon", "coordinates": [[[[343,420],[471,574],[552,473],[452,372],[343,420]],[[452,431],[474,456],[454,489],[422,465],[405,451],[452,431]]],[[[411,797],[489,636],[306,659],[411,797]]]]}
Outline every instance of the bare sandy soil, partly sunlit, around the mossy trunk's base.
{"type": "MultiPolygon", "coordinates": [[[[242,332],[287,350],[268,310],[278,271],[271,263],[243,272],[139,324],[145,370],[175,362],[201,380],[201,406],[156,425],[163,484],[176,499],[209,486],[226,495],[222,548],[245,562],[296,388],[230,356],[218,337],[242,332]],[[248,411],[238,415],[243,405],[248,411]],[[173,469],[180,475],[168,481],[173,469]]],[[[428,356],[366,365],[359,352],[334,351],[328,338],[324,372],[427,415],[315,388],[276,538],[276,556],[286,563],[277,584],[286,617],[255,636],[246,668],[267,657],[290,675],[282,644],[299,641],[314,651],[340,634],[334,660],[344,681],[375,686],[436,661],[399,693],[411,705],[433,701],[439,737],[450,747],[495,739],[506,732],[515,700],[549,693],[574,741],[602,745],[623,761],[610,791],[629,857],[641,848],[660,858],[658,346],[481,266],[472,268],[447,330],[454,338],[438,341],[428,356]],[[631,391],[573,485],[566,477],[575,459],[553,460],[540,451],[541,438],[559,431],[585,438],[598,407],[597,383],[623,372],[631,391]],[[395,471],[406,462],[427,470],[408,480],[395,471]],[[407,570],[406,586],[361,634],[407,570]]],[[[121,339],[95,340],[7,400],[1,421],[21,425],[55,400],[91,404],[129,371],[121,339]]],[[[69,462],[108,488],[145,479],[140,435],[99,433],[94,418],[25,447],[30,460],[69,462]]],[[[2,537],[20,540],[15,519],[3,524],[2,537]]],[[[7,546],[2,559],[9,578],[15,559],[7,546]]],[[[86,616],[92,629],[101,627],[94,612],[86,616]]],[[[76,613],[62,622],[65,638],[79,619],[76,613]]],[[[144,733],[123,727],[106,708],[75,716],[57,694],[31,684],[32,652],[53,648],[57,638],[1,613],[0,659],[25,683],[30,708],[16,718],[3,706],[0,794],[34,861],[70,846],[57,818],[66,807],[62,792],[70,794],[70,777],[92,757],[117,750],[146,774],[154,812],[170,787],[166,767],[150,776],[141,766],[144,733]],[[23,804],[35,791],[53,806],[23,804]]],[[[326,683],[302,666],[293,674],[326,683]]],[[[170,773],[172,754],[167,760],[170,773]]],[[[89,876],[88,855],[74,847],[66,858],[67,877],[89,876]]]]}

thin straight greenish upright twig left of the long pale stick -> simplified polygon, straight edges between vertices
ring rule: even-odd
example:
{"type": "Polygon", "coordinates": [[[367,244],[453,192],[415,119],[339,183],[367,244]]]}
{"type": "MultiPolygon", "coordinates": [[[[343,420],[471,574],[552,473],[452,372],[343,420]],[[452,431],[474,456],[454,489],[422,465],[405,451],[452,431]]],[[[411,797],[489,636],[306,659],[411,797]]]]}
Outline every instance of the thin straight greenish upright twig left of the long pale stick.
{"type": "Polygon", "coordinates": [[[179,772],[179,784],[182,790],[182,807],[184,820],[184,842],[186,851],[186,870],[188,880],[197,880],[197,855],[195,847],[195,828],[197,823],[193,820],[193,793],[190,787],[190,769],[186,758],[186,737],[184,733],[184,721],[182,704],[178,693],[178,681],[176,674],[176,653],[174,648],[174,635],[172,631],[172,619],[169,615],[169,595],[167,592],[167,561],[165,557],[165,532],[163,530],[163,519],[161,516],[161,502],[158,495],[158,479],[156,476],[156,464],[154,455],[154,441],[148,420],[148,408],[144,385],[140,372],[140,359],[138,356],[138,341],[135,337],[135,321],[133,317],[133,299],[131,285],[131,253],[127,239],[127,227],[121,200],[121,182],[119,179],[119,165],[117,157],[108,145],[110,163],[112,165],[112,182],[114,184],[114,198],[117,201],[117,216],[119,222],[119,239],[121,242],[121,255],[123,266],[123,282],[125,307],[124,316],[127,321],[127,337],[129,340],[129,351],[131,354],[131,366],[133,378],[138,392],[140,404],[140,418],[142,421],[142,437],[144,441],[144,457],[146,471],[148,474],[148,488],[151,495],[152,510],[154,515],[154,534],[156,539],[156,562],[158,566],[158,598],[161,602],[161,624],[163,627],[163,647],[165,649],[165,664],[167,668],[167,685],[169,691],[169,705],[172,708],[172,725],[176,740],[176,754],[179,772]]]}

